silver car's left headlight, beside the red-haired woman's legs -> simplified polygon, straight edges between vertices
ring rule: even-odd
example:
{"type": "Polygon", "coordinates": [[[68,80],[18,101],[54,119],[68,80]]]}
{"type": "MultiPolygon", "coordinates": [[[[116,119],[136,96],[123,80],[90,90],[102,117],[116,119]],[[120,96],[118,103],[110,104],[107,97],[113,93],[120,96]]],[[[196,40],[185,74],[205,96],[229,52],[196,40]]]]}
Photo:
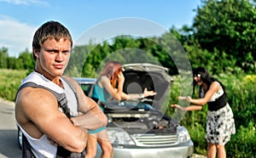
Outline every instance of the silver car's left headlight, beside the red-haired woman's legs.
{"type": "Polygon", "coordinates": [[[119,127],[108,127],[108,138],[111,144],[134,144],[130,135],[119,127]]]}

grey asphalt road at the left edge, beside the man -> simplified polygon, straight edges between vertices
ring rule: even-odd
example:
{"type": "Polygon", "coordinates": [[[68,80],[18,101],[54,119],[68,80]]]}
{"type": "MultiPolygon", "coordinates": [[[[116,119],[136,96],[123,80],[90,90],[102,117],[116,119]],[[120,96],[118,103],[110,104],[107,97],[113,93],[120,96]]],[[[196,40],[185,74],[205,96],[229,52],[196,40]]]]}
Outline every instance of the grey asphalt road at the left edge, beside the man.
{"type": "Polygon", "coordinates": [[[0,99],[0,158],[21,158],[17,143],[15,104],[0,99]]]}

